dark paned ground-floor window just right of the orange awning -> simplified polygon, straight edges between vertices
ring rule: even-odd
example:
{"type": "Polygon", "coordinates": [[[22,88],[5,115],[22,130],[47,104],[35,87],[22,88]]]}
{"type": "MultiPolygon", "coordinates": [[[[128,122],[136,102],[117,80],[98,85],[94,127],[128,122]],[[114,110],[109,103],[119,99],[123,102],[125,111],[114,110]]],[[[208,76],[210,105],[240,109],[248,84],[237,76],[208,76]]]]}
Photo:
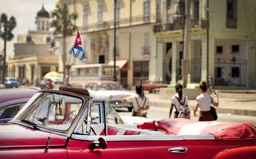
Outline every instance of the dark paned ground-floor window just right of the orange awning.
{"type": "Polygon", "coordinates": [[[142,81],[147,81],[149,77],[149,61],[133,62],[133,85],[140,85],[142,81]]]}

